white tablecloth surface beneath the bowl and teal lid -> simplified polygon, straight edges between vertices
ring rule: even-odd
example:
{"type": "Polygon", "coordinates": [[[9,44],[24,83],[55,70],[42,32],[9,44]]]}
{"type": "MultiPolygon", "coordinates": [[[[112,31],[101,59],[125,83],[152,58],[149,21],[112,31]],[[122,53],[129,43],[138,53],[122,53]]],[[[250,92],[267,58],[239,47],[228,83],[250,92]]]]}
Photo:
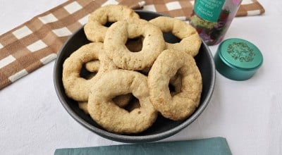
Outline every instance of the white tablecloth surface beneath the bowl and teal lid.
{"type": "MultiPolygon", "coordinates": [[[[0,0],[0,34],[64,1],[0,0]]],[[[226,39],[256,44],[263,66],[241,82],[216,73],[207,109],[162,141],[226,137],[233,154],[282,154],[282,1],[259,2],[264,16],[235,18],[226,39]]],[[[215,54],[217,46],[210,49],[215,54]]],[[[95,135],[69,116],[56,96],[53,67],[54,61],[0,91],[1,154],[54,154],[56,148],[121,144],[95,135]]]]}

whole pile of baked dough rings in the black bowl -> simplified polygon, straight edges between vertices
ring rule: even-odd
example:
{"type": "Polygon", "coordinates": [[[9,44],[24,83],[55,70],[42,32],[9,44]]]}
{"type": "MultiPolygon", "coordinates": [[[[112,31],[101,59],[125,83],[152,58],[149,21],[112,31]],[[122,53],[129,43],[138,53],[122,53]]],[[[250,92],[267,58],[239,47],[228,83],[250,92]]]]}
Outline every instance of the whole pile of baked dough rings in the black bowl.
{"type": "Polygon", "coordinates": [[[202,77],[194,56],[202,42],[191,25],[165,16],[147,21],[109,5],[94,11],[84,30],[90,43],[64,61],[63,87],[102,128],[138,133],[159,115],[183,120],[195,111],[202,77]],[[166,42],[167,32],[180,42],[166,42]]]}

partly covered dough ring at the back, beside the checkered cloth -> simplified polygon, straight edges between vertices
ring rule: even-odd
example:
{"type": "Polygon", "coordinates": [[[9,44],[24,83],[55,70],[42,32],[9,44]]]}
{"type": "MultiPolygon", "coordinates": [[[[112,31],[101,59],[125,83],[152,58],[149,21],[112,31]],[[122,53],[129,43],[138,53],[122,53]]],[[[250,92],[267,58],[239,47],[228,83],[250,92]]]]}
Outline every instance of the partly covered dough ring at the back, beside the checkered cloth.
{"type": "Polygon", "coordinates": [[[98,8],[90,14],[84,30],[87,39],[92,42],[104,42],[106,35],[106,23],[115,23],[118,20],[127,18],[140,18],[137,13],[128,6],[108,5],[98,8]]]}

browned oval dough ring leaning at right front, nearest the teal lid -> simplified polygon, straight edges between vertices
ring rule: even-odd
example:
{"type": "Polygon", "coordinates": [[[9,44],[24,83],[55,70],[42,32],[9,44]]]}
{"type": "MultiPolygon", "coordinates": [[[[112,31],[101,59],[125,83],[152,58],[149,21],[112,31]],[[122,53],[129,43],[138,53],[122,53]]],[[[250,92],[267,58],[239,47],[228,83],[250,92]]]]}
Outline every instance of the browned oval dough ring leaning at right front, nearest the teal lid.
{"type": "Polygon", "coordinates": [[[171,120],[190,116],[200,103],[202,76],[195,59],[183,51],[165,50],[154,62],[148,75],[149,94],[157,111],[171,120]],[[173,75],[182,77],[181,89],[171,97],[168,83],[173,75]]]}

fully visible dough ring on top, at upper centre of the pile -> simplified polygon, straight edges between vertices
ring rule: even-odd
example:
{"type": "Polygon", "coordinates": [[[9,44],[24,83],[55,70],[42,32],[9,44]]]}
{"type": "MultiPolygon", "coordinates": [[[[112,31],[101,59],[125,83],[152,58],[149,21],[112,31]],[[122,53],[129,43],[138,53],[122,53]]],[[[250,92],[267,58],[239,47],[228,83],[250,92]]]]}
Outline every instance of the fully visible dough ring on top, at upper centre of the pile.
{"type": "Polygon", "coordinates": [[[142,70],[149,68],[161,51],[164,51],[164,37],[158,27],[142,19],[120,20],[106,32],[105,53],[118,68],[142,70]],[[128,38],[144,37],[142,49],[129,51],[125,46],[128,38]]]}

